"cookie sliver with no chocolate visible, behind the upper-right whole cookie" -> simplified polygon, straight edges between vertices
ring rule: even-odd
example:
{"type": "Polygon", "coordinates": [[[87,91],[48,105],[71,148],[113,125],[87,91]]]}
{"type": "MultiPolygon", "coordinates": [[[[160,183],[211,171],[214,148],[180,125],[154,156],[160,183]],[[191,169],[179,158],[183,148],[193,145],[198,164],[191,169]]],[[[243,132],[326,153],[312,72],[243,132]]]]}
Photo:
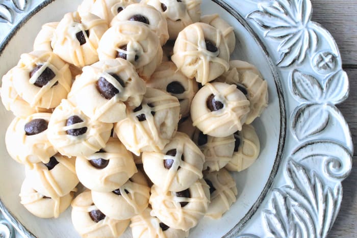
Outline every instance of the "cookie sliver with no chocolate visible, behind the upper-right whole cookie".
{"type": "Polygon", "coordinates": [[[220,18],[218,14],[202,16],[200,21],[212,25],[212,27],[217,28],[223,33],[225,42],[230,49],[230,54],[232,54],[236,47],[236,36],[234,35],[234,28],[225,20],[220,18]]]}

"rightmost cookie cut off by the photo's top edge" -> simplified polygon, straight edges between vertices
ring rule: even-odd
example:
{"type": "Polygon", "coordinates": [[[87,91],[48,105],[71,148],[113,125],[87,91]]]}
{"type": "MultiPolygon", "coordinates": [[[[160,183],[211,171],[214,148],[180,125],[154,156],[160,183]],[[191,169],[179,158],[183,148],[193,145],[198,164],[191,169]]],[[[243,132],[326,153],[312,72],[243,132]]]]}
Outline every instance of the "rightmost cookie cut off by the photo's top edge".
{"type": "Polygon", "coordinates": [[[188,25],[199,21],[201,16],[201,0],[142,0],[159,10],[167,20],[170,40],[176,40],[177,35],[188,25]]]}

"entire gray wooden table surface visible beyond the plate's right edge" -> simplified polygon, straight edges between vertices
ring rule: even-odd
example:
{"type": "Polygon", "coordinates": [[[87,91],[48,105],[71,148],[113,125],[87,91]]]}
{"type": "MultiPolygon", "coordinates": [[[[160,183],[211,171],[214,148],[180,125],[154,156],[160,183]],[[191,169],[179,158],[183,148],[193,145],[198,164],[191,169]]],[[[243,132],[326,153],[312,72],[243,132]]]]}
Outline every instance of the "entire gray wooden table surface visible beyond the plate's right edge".
{"type": "Polygon", "coordinates": [[[340,213],[328,237],[357,237],[357,1],[311,0],[313,20],[321,23],[335,38],[340,48],[343,69],[349,76],[350,93],[338,105],[352,134],[355,152],[351,174],[342,182],[343,199],[340,213]]]}

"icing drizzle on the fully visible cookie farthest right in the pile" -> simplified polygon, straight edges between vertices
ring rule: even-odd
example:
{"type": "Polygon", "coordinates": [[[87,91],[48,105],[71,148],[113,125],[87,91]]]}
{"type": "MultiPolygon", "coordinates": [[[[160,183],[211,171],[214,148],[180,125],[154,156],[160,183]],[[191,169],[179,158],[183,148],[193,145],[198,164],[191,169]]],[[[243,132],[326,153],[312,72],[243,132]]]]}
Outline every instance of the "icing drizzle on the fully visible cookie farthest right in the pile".
{"type": "Polygon", "coordinates": [[[231,101],[227,100],[226,96],[231,94],[236,90],[235,85],[231,85],[230,87],[227,87],[223,92],[219,92],[212,84],[207,83],[205,86],[208,86],[211,90],[211,92],[215,95],[215,98],[218,98],[219,101],[221,101],[224,104],[224,108],[219,111],[215,112],[210,112],[205,115],[202,115],[200,118],[197,118],[193,122],[193,126],[196,126],[197,124],[215,117],[219,118],[215,121],[215,123],[212,123],[210,126],[205,128],[205,130],[202,131],[203,134],[208,134],[210,131],[213,131],[214,129],[217,129],[218,127],[233,121],[233,125],[238,126],[238,130],[242,129],[242,123],[241,123],[241,117],[244,116],[248,110],[244,110],[245,107],[249,106],[249,101],[248,100],[240,100],[240,101],[231,101]],[[244,110],[242,113],[237,113],[237,110],[244,110]]]}

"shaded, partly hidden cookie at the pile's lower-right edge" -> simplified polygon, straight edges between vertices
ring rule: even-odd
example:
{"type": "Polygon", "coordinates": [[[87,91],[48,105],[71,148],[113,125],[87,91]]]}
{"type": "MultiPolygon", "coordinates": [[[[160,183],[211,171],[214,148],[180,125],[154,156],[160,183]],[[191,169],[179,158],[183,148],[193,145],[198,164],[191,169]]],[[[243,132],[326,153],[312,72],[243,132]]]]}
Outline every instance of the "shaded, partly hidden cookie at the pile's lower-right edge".
{"type": "Polygon", "coordinates": [[[237,199],[236,181],[225,169],[206,174],[204,178],[211,194],[211,203],[205,216],[219,219],[237,199]]]}

